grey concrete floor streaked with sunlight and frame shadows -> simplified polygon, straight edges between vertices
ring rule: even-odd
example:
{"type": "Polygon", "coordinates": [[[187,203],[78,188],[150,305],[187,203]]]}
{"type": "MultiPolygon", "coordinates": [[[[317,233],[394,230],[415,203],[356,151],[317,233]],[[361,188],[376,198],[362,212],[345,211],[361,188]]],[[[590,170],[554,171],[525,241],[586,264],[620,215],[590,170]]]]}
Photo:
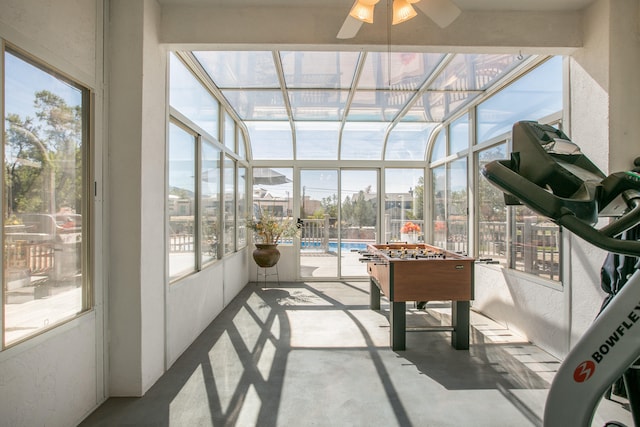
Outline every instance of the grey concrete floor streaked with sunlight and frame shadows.
{"type": "MultiPolygon", "coordinates": [[[[540,426],[559,363],[472,312],[470,350],[448,332],[389,348],[368,282],[249,284],[142,398],[111,398],[81,426],[540,426]]],[[[407,304],[412,307],[413,304],[407,304]]],[[[449,304],[407,326],[449,324],[449,304]]],[[[603,401],[593,425],[629,413],[603,401]]]]}

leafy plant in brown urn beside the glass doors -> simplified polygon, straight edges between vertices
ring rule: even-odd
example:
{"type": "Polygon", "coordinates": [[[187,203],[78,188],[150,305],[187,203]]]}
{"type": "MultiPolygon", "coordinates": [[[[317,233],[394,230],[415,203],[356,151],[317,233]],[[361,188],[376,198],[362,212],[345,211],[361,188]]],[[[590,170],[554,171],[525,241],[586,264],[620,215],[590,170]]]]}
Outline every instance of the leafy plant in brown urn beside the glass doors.
{"type": "Polygon", "coordinates": [[[300,222],[278,218],[271,212],[260,212],[259,218],[249,218],[247,227],[253,230],[256,249],[253,259],[260,267],[273,267],[280,259],[277,246],[281,239],[298,235],[300,222]]]}

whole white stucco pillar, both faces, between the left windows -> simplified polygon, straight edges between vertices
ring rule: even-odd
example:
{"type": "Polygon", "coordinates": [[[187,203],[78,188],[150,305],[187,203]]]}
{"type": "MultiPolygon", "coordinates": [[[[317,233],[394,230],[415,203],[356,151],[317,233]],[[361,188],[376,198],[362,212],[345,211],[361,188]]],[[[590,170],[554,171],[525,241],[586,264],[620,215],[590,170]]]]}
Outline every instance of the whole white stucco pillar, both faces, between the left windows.
{"type": "Polygon", "coordinates": [[[152,17],[151,2],[110,2],[109,389],[113,396],[144,394],[164,368],[164,256],[157,257],[164,247],[164,207],[154,204],[164,203],[164,190],[145,193],[147,185],[150,190],[158,187],[143,178],[148,174],[164,182],[164,162],[158,157],[164,152],[165,102],[162,96],[154,98],[159,105],[147,102],[153,91],[164,93],[164,84],[154,86],[160,84],[157,73],[165,67],[154,60],[154,51],[158,58],[161,55],[157,43],[155,50],[152,45],[152,17]],[[160,70],[151,68],[158,63],[160,70]],[[153,260],[152,255],[156,255],[153,260]],[[147,282],[147,275],[154,277],[152,264],[156,281],[147,282]]]}

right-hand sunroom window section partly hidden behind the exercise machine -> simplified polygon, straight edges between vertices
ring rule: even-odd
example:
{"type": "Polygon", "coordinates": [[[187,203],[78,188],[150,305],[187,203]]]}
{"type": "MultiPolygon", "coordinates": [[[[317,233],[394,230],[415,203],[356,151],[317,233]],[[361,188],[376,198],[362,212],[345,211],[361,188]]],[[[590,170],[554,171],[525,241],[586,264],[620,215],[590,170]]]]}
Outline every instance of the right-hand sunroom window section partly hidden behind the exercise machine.
{"type": "Polygon", "coordinates": [[[560,228],[526,207],[507,209],[502,193],[480,176],[480,170],[491,160],[508,157],[514,122],[559,122],[562,103],[562,58],[555,57],[476,109],[478,255],[551,280],[560,280],[560,228]]]}

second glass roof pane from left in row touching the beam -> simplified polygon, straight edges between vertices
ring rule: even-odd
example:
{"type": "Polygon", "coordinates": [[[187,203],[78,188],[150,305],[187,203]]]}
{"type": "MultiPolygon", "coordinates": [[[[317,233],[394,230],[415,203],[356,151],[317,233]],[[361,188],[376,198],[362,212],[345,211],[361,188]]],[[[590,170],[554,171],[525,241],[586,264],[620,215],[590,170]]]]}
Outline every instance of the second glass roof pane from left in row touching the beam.
{"type": "Polygon", "coordinates": [[[280,52],[287,88],[349,89],[358,52],[280,52]]]}

